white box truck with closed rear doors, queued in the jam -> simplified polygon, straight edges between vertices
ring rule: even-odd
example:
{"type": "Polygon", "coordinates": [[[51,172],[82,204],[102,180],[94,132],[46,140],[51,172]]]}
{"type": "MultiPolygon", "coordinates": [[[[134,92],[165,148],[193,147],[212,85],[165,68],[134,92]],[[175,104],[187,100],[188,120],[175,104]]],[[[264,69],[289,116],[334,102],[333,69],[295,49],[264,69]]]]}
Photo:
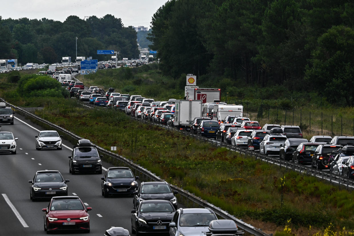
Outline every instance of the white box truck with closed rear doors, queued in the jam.
{"type": "Polygon", "coordinates": [[[186,129],[195,117],[201,115],[201,100],[176,100],[173,125],[177,129],[186,129]]]}

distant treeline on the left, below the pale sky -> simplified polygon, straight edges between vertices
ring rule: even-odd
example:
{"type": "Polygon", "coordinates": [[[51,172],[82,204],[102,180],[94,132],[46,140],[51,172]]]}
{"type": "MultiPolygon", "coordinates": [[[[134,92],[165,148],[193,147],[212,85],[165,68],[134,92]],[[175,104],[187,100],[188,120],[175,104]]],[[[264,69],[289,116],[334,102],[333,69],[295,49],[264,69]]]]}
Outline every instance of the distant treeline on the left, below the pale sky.
{"type": "Polygon", "coordinates": [[[139,50],[136,31],[124,27],[120,18],[105,15],[86,20],[69,16],[64,22],[51,19],[1,19],[0,57],[18,59],[19,63],[56,63],[62,57],[75,61],[76,42],[78,57],[92,56],[108,60],[112,55],[97,55],[97,50],[120,51],[121,57],[136,58],[139,50]]]}

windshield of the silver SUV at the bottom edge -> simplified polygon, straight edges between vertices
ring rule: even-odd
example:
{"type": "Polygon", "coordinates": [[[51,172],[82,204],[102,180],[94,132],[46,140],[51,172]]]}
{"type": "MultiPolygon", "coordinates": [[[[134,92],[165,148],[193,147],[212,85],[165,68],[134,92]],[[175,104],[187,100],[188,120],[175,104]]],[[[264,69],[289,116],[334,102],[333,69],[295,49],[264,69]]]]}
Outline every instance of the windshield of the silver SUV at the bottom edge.
{"type": "Polygon", "coordinates": [[[182,227],[209,226],[210,221],[216,220],[212,213],[181,214],[179,225],[182,227]]]}

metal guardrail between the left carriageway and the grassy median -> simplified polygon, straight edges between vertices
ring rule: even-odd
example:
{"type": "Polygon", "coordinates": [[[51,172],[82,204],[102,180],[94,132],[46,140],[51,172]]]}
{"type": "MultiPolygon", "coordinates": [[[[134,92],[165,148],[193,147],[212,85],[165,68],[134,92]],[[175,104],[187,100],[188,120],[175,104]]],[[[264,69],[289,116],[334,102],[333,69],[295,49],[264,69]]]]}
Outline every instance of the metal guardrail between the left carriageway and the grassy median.
{"type": "MultiPolygon", "coordinates": [[[[2,100],[3,102],[6,102],[4,99],[0,98],[0,100],[2,100]]],[[[7,102],[6,102],[7,103],[7,102]]],[[[15,109],[17,113],[21,112],[23,115],[25,116],[29,116],[29,117],[32,117],[33,119],[37,120],[37,121],[40,121],[42,123],[45,123],[46,125],[68,135],[69,137],[73,138],[73,139],[76,139],[76,140],[79,140],[79,139],[83,139],[82,137],[79,137],[77,136],[76,134],[70,132],[70,131],[67,131],[66,129],[60,127],[60,126],[57,126],[47,120],[44,120],[42,119],[41,117],[38,117],[32,113],[29,113],[28,111],[24,110],[24,109],[21,109],[19,107],[16,107],[15,105],[12,105],[10,103],[7,103],[11,108],[15,109]]],[[[160,177],[156,176],[154,173],[151,173],[151,171],[148,171],[147,169],[144,169],[143,167],[141,167],[140,165],[137,165],[135,164],[134,162],[132,162],[131,160],[121,156],[121,155],[118,155],[118,154],[115,154],[113,152],[110,152],[108,150],[105,150],[97,145],[95,145],[97,147],[97,149],[103,153],[104,155],[107,155],[107,156],[110,156],[110,157],[113,157],[114,159],[117,159],[121,162],[123,162],[125,165],[127,166],[130,166],[131,168],[133,168],[135,171],[141,173],[143,175],[143,179],[150,179],[150,181],[154,180],[154,181],[165,181],[163,179],[161,179],[160,177]]],[[[205,201],[205,200],[202,200],[201,197],[197,197],[195,196],[194,194],[188,192],[188,191],[185,191],[181,188],[178,188],[177,186],[175,185],[172,185],[170,184],[172,190],[176,190],[178,191],[178,194],[181,196],[179,198],[186,198],[186,201],[188,203],[188,201],[191,201],[194,204],[196,205],[199,205],[201,207],[209,207],[211,208],[217,215],[219,215],[220,217],[224,218],[224,219],[230,219],[230,220],[234,220],[238,226],[238,228],[252,234],[252,235],[255,235],[255,236],[269,236],[268,234],[264,233],[262,230],[260,229],[257,229],[256,227],[250,225],[250,224],[247,224],[245,223],[244,221],[234,217],[233,215],[230,215],[228,212],[226,211],[223,211],[221,208],[219,207],[216,207],[214,205],[212,205],[211,203],[205,201]]]]}

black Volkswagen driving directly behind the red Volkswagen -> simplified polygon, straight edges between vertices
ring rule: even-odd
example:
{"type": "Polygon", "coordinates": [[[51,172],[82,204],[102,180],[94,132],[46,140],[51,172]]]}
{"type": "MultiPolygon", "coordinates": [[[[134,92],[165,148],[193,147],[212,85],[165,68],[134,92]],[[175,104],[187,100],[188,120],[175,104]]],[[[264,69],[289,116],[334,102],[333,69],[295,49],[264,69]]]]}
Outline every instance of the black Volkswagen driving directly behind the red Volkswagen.
{"type": "Polygon", "coordinates": [[[70,180],[63,178],[59,171],[37,171],[33,179],[28,180],[30,186],[30,199],[68,196],[68,183],[70,180]]]}

